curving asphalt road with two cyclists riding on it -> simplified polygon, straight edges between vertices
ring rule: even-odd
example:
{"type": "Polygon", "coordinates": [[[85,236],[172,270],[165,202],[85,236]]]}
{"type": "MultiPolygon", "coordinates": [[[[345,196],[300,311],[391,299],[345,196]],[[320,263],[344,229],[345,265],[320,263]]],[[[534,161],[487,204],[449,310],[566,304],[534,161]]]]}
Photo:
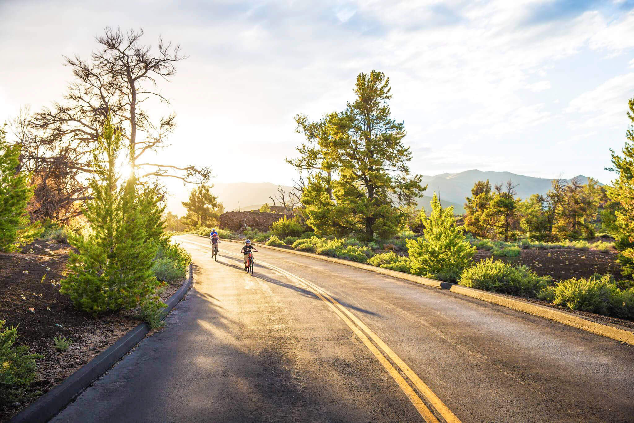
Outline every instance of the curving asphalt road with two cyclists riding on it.
{"type": "Polygon", "coordinates": [[[285,252],[250,276],[238,244],[213,263],[179,241],[195,283],[165,329],[53,421],[634,421],[632,346],[285,252]]]}

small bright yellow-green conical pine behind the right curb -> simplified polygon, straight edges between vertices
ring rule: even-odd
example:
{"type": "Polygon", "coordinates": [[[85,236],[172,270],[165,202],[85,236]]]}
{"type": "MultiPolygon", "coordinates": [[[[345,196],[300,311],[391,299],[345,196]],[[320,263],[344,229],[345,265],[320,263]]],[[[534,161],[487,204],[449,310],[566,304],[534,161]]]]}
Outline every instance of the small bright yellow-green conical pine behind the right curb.
{"type": "Polygon", "coordinates": [[[464,228],[456,226],[453,205],[443,210],[434,193],[431,206],[429,218],[421,214],[423,237],[407,240],[411,273],[455,282],[473,262],[475,247],[467,241],[464,228]]]}

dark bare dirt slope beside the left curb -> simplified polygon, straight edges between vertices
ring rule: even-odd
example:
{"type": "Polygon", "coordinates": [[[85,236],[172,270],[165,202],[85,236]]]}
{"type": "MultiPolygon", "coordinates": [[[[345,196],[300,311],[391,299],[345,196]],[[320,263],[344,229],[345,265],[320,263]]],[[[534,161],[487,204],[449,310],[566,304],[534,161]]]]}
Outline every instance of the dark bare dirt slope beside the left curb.
{"type": "MultiPolygon", "coordinates": [[[[20,253],[0,253],[0,320],[6,320],[5,327],[18,327],[18,344],[44,356],[37,360],[30,400],[0,408],[0,421],[60,384],[141,322],[134,310],[92,318],[74,308],[60,293],[71,251],[70,245],[38,240],[20,253]],[[67,351],[56,350],[55,337],[72,341],[67,351]]],[[[161,299],[179,287],[181,282],[168,284],[161,299]]]]}

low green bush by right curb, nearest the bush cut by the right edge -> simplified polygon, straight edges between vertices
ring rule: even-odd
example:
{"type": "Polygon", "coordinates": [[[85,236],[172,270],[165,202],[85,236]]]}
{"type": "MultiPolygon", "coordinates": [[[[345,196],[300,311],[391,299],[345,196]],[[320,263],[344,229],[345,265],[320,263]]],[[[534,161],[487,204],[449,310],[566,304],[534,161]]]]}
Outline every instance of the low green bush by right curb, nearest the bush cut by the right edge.
{"type": "Polygon", "coordinates": [[[611,311],[613,297],[618,291],[611,275],[594,275],[562,280],[543,289],[539,297],[552,301],[556,306],[604,315],[611,311]]]}

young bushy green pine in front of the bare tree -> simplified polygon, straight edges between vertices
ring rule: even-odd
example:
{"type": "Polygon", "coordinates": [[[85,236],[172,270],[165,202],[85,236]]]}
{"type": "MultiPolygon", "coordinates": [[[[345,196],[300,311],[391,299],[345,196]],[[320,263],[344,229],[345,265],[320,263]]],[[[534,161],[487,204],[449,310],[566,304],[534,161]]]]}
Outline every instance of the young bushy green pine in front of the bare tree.
{"type": "Polygon", "coordinates": [[[61,281],[61,292],[94,316],[159,304],[159,282],[152,273],[157,225],[152,213],[147,216],[148,202],[139,196],[136,178],[119,183],[115,162],[121,146],[121,134],[108,119],[93,152],[95,174],[89,186],[94,199],[84,210],[89,234],[70,239],[79,253],[70,254],[70,274],[61,281]]]}

